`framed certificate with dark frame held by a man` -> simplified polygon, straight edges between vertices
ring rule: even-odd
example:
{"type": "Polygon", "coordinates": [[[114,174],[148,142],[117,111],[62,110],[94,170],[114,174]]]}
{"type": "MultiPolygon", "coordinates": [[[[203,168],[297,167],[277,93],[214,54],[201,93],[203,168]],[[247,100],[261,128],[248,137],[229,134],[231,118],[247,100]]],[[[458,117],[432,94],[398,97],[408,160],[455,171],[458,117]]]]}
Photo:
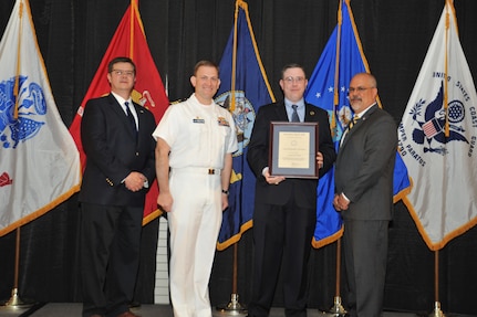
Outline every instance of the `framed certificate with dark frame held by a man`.
{"type": "Polygon", "coordinates": [[[269,172],[318,179],[318,123],[270,123],[269,172]]]}

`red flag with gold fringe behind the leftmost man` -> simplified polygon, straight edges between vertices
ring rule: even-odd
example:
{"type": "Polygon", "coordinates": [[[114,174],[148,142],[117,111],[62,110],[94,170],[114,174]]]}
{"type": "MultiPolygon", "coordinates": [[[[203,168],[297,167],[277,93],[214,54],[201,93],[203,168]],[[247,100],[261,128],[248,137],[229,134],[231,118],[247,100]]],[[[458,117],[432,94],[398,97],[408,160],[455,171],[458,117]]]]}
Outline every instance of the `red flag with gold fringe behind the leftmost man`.
{"type": "MultiPolygon", "coordinates": [[[[124,13],[124,17],[114,33],[113,40],[101,61],[100,67],[97,68],[90,88],[87,89],[70,127],[70,133],[80,150],[83,168],[85,166],[86,157],[81,144],[80,127],[83,118],[84,106],[89,99],[101,97],[110,93],[111,87],[106,80],[107,63],[116,56],[127,56],[136,64],[137,78],[132,97],[134,102],[149,109],[154,114],[156,123],[159,121],[165,109],[169,105],[163,81],[160,80],[159,72],[157,71],[147,45],[137,1],[132,0],[131,6],[124,13]]],[[[146,196],[143,224],[146,224],[160,214],[157,209],[157,182],[154,181],[146,196]]]]}

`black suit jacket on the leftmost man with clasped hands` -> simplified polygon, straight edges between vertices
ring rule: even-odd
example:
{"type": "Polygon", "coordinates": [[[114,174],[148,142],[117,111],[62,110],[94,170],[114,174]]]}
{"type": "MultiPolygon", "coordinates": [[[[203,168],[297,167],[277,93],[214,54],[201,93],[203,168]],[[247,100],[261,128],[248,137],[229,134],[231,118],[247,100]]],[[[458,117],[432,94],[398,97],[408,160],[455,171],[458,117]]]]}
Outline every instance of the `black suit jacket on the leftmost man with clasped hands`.
{"type": "Polygon", "coordinates": [[[81,140],[86,154],[86,168],[80,201],[110,205],[143,205],[147,189],[127,190],[122,181],[131,171],[142,172],[153,184],[155,178],[156,127],[153,114],[134,104],[138,117],[136,136],[127,117],[110,94],[90,99],[81,123],[81,140]]]}

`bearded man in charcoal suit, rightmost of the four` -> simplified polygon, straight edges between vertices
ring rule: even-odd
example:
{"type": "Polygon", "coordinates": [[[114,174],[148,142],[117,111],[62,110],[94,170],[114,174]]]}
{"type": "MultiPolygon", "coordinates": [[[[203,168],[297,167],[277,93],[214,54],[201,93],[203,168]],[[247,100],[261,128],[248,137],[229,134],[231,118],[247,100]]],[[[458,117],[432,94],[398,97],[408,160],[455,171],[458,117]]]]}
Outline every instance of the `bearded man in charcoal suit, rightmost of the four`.
{"type": "Polygon", "coordinates": [[[376,96],[373,75],[360,73],[351,80],[349,98],[359,119],[350,121],[343,134],[334,173],[333,204],[344,220],[352,317],[379,317],[383,309],[397,128],[393,117],[377,106],[376,96]]]}

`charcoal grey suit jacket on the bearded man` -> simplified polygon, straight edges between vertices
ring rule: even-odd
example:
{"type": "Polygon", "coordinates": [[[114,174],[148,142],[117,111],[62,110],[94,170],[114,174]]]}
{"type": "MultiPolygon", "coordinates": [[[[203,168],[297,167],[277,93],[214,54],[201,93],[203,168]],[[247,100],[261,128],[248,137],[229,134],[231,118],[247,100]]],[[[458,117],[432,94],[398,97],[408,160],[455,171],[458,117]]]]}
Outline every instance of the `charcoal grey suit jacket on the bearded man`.
{"type": "Polygon", "coordinates": [[[338,151],[335,192],[351,200],[343,219],[391,220],[397,127],[374,105],[344,137],[338,151]]]}

